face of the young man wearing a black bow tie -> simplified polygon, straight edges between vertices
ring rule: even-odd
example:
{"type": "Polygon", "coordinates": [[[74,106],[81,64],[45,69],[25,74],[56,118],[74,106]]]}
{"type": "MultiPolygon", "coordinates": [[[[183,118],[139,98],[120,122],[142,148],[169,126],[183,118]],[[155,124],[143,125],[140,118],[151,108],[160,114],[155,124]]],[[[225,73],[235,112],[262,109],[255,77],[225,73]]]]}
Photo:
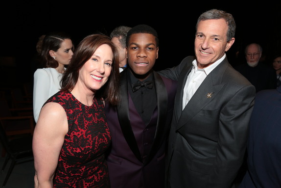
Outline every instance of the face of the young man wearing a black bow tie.
{"type": "Polygon", "coordinates": [[[151,72],[158,58],[158,50],[152,34],[135,33],[130,36],[126,52],[128,64],[140,81],[145,80],[151,72]]]}

